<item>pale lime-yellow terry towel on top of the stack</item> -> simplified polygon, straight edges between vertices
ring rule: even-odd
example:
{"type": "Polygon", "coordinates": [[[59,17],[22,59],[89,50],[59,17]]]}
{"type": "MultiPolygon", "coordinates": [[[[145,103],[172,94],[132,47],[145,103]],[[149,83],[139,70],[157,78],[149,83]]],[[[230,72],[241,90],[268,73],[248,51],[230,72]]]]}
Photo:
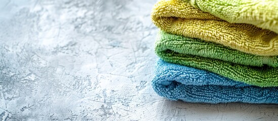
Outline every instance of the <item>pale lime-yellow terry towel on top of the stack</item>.
{"type": "Polygon", "coordinates": [[[197,9],[226,20],[230,23],[253,24],[278,33],[278,1],[236,0],[203,1],[189,0],[197,9]]]}

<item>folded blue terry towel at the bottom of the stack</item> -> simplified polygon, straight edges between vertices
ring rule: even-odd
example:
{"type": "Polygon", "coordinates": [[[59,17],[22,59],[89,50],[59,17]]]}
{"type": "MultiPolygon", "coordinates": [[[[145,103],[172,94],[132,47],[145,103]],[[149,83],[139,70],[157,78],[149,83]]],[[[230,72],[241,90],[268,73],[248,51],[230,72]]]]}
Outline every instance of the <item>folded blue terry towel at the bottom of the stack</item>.
{"type": "Polygon", "coordinates": [[[217,74],[159,60],[152,80],[154,91],[186,102],[278,103],[278,87],[257,87],[217,74]]]}

